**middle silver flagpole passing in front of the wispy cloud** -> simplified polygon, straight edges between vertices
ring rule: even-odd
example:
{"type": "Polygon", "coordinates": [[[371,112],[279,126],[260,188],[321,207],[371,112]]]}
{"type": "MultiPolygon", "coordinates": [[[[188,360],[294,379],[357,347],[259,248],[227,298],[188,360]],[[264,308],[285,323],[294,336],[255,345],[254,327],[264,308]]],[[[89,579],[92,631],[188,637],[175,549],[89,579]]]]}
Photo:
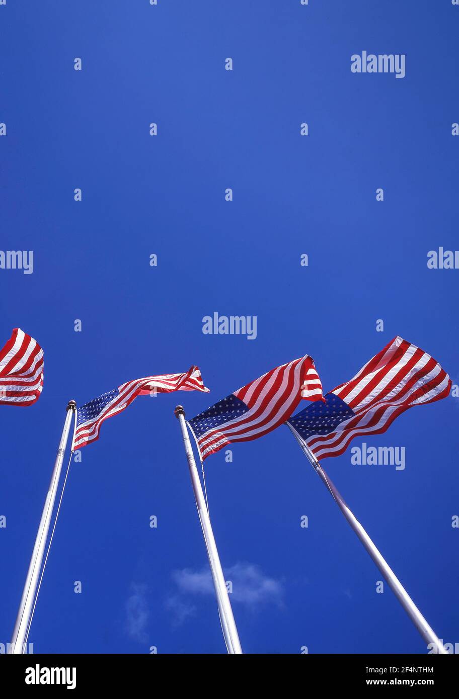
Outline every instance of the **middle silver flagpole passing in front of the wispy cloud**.
{"type": "Polygon", "coordinates": [[[225,637],[227,651],[229,654],[241,654],[241,643],[239,642],[236,622],[234,621],[231,603],[229,602],[225,577],[223,576],[222,566],[218,557],[216,540],[213,537],[211,520],[209,519],[209,512],[207,512],[206,500],[202,491],[201,481],[199,480],[196,461],[195,457],[193,456],[190,437],[188,436],[185,423],[185,410],[183,410],[182,405],[177,405],[176,409],[174,410],[174,415],[180,422],[181,426],[183,445],[185,446],[185,453],[188,459],[188,468],[190,469],[191,483],[195,493],[199,521],[201,522],[207,555],[209,556],[213,586],[216,591],[218,613],[220,614],[220,621],[222,624],[223,636],[225,637]]]}

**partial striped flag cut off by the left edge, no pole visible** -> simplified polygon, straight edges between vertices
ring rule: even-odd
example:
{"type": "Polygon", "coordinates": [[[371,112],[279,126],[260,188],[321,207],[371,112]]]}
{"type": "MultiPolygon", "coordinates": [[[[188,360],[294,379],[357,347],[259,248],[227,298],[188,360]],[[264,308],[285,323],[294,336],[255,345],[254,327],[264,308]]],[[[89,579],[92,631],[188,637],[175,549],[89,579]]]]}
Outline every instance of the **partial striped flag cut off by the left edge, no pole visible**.
{"type": "Polygon", "coordinates": [[[43,389],[43,349],[15,328],[0,350],[0,405],[31,405],[43,389]]]}

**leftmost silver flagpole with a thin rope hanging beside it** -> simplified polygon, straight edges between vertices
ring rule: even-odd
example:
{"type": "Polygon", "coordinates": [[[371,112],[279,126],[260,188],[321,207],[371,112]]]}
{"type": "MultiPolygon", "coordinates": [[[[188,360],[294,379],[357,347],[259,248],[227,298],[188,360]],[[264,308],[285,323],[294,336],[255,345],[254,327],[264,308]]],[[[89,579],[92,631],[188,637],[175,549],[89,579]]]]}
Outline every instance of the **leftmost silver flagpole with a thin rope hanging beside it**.
{"type": "Polygon", "coordinates": [[[24,652],[24,642],[27,636],[27,629],[29,627],[31,611],[34,605],[38,576],[40,575],[41,564],[43,563],[43,554],[45,552],[45,545],[46,540],[48,538],[48,531],[50,528],[50,521],[52,517],[52,509],[54,507],[57,487],[59,485],[59,477],[61,475],[62,470],[62,461],[64,461],[64,453],[67,445],[67,440],[69,438],[71,417],[75,410],[75,401],[69,401],[69,404],[66,407],[67,412],[64,422],[64,428],[62,430],[61,440],[59,442],[59,448],[57,449],[56,461],[54,468],[52,469],[50,486],[48,488],[48,495],[46,496],[45,505],[41,514],[41,520],[38,526],[38,532],[36,534],[34,550],[31,555],[29,570],[27,571],[27,578],[24,584],[24,591],[22,592],[21,603],[19,606],[19,611],[17,612],[17,619],[15,623],[15,628],[13,630],[13,637],[10,643],[10,654],[22,654],[24,652]]]}

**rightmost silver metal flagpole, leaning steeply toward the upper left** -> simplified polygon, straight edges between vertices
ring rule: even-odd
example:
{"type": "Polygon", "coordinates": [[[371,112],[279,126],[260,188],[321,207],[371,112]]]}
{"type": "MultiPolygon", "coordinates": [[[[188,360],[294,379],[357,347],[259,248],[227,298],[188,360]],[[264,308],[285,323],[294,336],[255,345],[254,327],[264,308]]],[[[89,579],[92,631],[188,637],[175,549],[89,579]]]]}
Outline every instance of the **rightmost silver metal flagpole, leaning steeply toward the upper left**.
{"type": "Polygon", "coordinates": [[[362,527],[358,519],[354,517],[351,510],[349,510],[343,498],[341,498],[339,491],[334,486],[332,480],[330,480],[327,473],[325,473],[325,470],[323,470],[322,466],[320,466],[320,462],[318,461],[318,459],[316,459],[316,456],[314,456],[314,454],[311,452],[311,449],[309,449],[309,447],[304,443],[304,441],[302,440],[301,436],[297,433],[295,428],[292,427],[292,425],[290,425],[289,423],[287,424],[290,428],[290,431],[292,431],[292,433],[295,435],[295,438],[297,439],[297,442],[299,446],[302,448],[304,454],[306,454],[306,457],[309,459],[309,463],[311,463],[311,466],[313,466],[317,475],[320,477],[320,480],[323,481],[327,489],[330,491],[330,493],[332,493],[332,497],[337,503],[339,509],[344,514],[344,517],[346,517],[348,523],[351,525],[355,533],[358,535],[358,538],[364,545],[365,549],[367,549],[367,552],[371,556],[373,562],[376,563],[382,575],[386,578],[386,581],[388,582],[390,589],[395,594],[397,600],[399,600],[405,612],[407,612],[409,618],[413,622],[414,626],[416,626],[425,642],[427,644],[435,644],[432,647],[432,650],[435,649],[437,653],[448,654],[448,651],[444,648],[444,645],[439,640],[439,637],[428,624],[426,619],[424,619],[423,615],[418,610],[418,607],[416,607],[413,600],[411,599],[407,591],[404,589],[404,586],[393,572],[392,568],[390,568],[388,563],[386,563],[385,559],[383,559],[383,556],[381,556],[379,550],[376,548],[372,540],[369,538],[369,535],[367,534],[365,529],[362,527]]]}

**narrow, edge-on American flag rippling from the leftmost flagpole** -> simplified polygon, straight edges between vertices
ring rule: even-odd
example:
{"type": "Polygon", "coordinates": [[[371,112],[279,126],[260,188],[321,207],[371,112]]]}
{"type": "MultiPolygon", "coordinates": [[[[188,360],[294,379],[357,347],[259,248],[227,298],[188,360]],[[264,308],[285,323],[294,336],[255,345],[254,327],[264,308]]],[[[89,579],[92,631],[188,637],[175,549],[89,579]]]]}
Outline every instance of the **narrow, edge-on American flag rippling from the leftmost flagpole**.
{"type": "Polygon", "coordinates": [[[100,427],[104,420],[125,410],[137,396],[171,393],[171,391],[204,391],[209,393],[209,389],[206,389],[202,382],[201,372],[197,366],[192,366],[184,374],[162,374],[128,381],[118,389],[108,391],[108,393],[102,394],[78,408],[72,449],[80,449],[80,447],[85,447],[85,445],[98,440],[100,427]]]}

